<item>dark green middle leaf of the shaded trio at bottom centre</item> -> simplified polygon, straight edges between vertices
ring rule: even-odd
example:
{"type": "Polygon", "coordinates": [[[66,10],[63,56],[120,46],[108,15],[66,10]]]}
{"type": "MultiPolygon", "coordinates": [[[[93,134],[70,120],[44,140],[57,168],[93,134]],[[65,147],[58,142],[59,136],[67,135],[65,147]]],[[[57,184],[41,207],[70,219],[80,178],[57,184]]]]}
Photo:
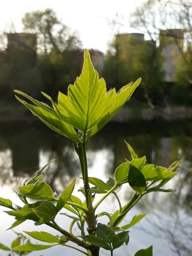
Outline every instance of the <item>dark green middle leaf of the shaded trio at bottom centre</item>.
{"type": "Polygon", "coordinates": [[[98,223],[96,228],[96,236],[100,237],[105,242],[111,244],[115,239],[115,231],[112,228],[108,227],[107,225],[98,223]]]}

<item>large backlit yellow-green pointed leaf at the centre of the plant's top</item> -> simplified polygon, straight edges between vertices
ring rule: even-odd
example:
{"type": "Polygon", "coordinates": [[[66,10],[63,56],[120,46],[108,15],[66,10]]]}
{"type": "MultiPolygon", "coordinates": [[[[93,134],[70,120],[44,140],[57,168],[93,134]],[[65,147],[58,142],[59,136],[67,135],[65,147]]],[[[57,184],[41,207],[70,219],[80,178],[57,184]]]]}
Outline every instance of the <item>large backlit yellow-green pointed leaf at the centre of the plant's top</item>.
{"type": "Polygon", "coordinates": [[[110,112],[115,98],[115,89],[107,93],[105,80],[99,79],[85,50],[82,73],[69,85],[68,96],[59,92],[58,104],[68,123],[86,132],[110,112]]]}

